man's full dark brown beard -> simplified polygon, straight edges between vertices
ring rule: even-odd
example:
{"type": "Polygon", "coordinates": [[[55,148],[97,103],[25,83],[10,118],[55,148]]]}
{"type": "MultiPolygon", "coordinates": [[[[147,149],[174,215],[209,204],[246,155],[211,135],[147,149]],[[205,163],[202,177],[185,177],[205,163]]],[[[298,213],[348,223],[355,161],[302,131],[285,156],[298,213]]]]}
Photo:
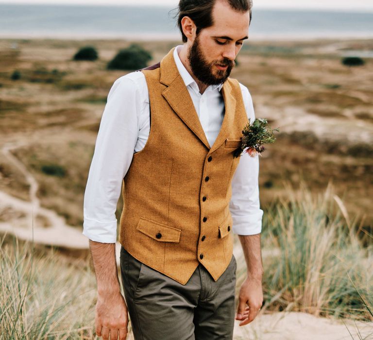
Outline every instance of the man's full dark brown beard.
{"type": "Polygon", "coordinates": [[[219,85],[224,83],[235,65],[235,62],[228,58],[208,63],[201,49],[198,35],[189,49],[188,61],[193,74],[200,82],[206,85],[219,85]],[[215,65],[228,66],[228,68],[226,70],[220,70],[215,68],[215,65]],[[214,69],[217,70],[215,74],[214,69]]]}

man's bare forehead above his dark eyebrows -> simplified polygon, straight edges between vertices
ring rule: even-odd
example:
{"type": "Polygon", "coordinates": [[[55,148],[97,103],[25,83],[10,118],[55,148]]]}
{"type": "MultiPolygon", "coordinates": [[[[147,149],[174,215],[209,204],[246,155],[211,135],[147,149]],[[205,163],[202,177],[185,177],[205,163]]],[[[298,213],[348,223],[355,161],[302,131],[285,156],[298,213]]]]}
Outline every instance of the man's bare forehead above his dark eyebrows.
{"type": "Polygon", "coordinates": [[[250,11],[237,11],[228,1],[217,0],[212,10],[212,18],[213,25],[205,29],[208,34],[229,36],[237,40],[248,35],[250,11]]]}

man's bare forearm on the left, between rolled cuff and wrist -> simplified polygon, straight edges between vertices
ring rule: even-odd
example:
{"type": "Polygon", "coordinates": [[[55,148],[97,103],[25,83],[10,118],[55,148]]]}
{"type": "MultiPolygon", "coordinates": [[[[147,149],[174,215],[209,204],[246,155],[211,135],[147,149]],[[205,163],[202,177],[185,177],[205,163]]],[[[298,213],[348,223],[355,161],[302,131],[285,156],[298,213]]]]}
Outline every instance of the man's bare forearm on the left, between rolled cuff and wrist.
{"type": "Polygon", "coordinates": [[[120,293],[115,243],[101,243],[89,240],[89,248],[95,267],[99,293],[120,293]]]}

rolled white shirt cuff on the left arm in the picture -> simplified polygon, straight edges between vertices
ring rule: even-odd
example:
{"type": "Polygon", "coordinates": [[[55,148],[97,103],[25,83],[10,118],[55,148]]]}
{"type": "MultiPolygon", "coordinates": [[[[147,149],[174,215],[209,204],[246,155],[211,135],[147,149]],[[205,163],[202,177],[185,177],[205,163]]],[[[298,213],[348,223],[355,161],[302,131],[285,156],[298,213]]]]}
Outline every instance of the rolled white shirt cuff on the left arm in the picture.
{"type": "Polygon", "coordinates": [[[117,241],[117,219],[111,222],[100,222],[85,218],[82,234],[95,242],[115,243],[117,241]]]}

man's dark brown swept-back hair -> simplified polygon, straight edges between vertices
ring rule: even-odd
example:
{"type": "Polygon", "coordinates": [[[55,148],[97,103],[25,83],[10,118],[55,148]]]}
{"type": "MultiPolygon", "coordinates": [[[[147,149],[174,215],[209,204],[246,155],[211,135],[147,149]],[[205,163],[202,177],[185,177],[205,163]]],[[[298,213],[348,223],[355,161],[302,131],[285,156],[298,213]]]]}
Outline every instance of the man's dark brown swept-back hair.
{"type": "MultiPolygon", "coordinates": [[[[190,17],[195,25],[197,26],[198,35],[203,28],[207,28],[212,26],[212,9],[215,5],[217,0],[180,0],[179,1],[179,11],[177,13],[178,20],[177,25],[181,32],[181,36],[183,38],[183,42],[187,41],[186,35],[183,33],[183,28],[181,26],[181,19],[183,17],[190,17]]],[[[231,8],[235,9],[238,12],[247,12],[250,11],[250,23],[252,18],[252,8],[253,8],[253,1],[252,0],[225,0],[231,6],[231,8]]],[[[250,25],[249,23],[249,25],[250,25]]]]}

